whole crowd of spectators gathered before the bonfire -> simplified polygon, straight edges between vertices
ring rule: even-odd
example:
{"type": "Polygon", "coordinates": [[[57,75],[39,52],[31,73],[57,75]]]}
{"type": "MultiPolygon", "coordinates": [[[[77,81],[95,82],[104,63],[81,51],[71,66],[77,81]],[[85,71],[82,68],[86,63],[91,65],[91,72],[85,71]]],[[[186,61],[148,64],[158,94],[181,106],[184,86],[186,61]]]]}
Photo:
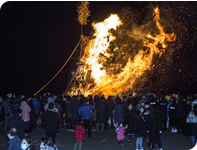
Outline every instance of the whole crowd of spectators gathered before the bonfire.
{"type": "Polygon", "coordinates": [[[197,136],[197,95],[154,95],[145,89],[141,95],[128,96],[88,95],[15,96],[0,97],[0,123],[7,132],[8,150],[35,150],[28,133],[41,124],[46,137],[41,139],[40,150],[57,150],[56,133],[66,125],[74,133],[74,149],[81,150],[86,136],[92,132],[104,134],[114,128],[118,144],[127,135],[129,144],[136,144],[136,150],[143,150],[143,141],[151,150],[158,144],[162,150],[160,135],[167,129],[172,133],[191,136],[191,147],[197,136]],[[87,134],[86,134],[87,130],[87,134]]]}

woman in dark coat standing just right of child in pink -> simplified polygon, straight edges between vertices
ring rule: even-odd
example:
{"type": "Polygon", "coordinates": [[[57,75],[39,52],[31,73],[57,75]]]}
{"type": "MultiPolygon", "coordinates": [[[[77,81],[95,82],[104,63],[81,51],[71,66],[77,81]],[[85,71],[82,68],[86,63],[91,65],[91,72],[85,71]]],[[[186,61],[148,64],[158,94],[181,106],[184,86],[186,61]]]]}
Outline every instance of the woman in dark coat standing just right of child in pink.
{"type": "Polygon", "coordinates": [[[128,107],[126,109],[126,117],[125,117],[125,123],[128,126],[127,128],[127,135],[128,135],[128,141],[129,143],[133,142],[133,137],[135,135],[135,110],[133,109],[132,102],[128,104],[128,107]]]}

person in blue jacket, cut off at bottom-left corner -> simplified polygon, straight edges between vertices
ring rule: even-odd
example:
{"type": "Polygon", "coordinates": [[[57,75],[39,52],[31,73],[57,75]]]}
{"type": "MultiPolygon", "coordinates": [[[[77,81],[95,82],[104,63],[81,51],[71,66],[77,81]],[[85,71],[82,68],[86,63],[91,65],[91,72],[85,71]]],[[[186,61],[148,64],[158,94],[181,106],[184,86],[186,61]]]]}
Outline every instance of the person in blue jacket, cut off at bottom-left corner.
{"type": "Polygon", "coordinates": [[[8,150],[22,150],[21,149],[21,141],[18,138],[16,128],[11,128],[8,131],[7,136],[8,136],[8,139],[9,139],[8,150]]]}

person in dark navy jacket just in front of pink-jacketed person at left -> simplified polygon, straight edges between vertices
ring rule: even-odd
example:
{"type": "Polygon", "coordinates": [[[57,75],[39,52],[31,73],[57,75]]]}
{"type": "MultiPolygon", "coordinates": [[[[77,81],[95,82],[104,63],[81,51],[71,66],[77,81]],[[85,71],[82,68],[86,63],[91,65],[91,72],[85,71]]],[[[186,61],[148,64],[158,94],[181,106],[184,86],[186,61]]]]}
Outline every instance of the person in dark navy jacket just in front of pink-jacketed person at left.
{"type": "Polygon", "coordinates": [[[16,128],[18,137],[21,139],[25,135],[25,131],[29,129],[28,123],[21,119],[22,110],[17,109],[14,116],[8,120],[8,130],[16,128]]]}

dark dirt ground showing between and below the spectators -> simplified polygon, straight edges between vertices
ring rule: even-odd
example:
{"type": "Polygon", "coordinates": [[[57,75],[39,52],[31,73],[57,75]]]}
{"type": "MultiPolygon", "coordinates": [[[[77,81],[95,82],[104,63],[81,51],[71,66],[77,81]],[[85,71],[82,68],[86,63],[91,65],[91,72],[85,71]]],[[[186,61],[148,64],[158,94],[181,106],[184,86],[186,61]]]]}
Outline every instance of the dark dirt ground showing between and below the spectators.
{"type": "MultiPolygon", "coordinates": [[[[87,132],[87,131],[86,131],[87,132]]],[[[39,150],[40,139],[45,136],[45,130],[41,130],[38,125],[36,130],[33,130],[29,136],[33,139],[33,143],[36,150],[39,150]]],[[[92,132],[92,137],[86,136],[86,141],[83,142],[82,150],[135,150],[135,141],[129,144],[127,141],[127,135],[125,135],[123,141],[124,145],[118,144],[116,140],[115,130],[108,128],[105,130],[105,134],[96,134],[92,132]]],[[[164,131],[161,135],[161,142],[163,150],[189,150],[190,149],[190,137],[183,136],[182,134],[171,133],[170,128],[164,131]]],[[[60,129],[60,132],[56,134],[56,145],[58,150],[72,150],[74,146],[74,134],[66,130],[66,126],[60,129]]],[[[144,143],[144,149],[149,150],[144,143]]],[[[4,126],[0,125],[0,150],[7,150],[8,141],[4,126]]],[[[156,148],[157,145],[156,145],[156,148]]],[[[195,149],[193,149],[195,150],[195,149]]]]}

